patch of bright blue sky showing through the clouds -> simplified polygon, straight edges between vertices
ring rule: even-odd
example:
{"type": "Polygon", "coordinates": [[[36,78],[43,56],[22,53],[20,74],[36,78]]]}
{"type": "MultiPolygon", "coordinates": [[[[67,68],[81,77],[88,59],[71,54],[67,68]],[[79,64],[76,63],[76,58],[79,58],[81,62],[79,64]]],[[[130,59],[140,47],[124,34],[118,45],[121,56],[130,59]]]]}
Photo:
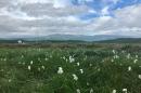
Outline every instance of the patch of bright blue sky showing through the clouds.
{"type": "Polygon", "coordinates": [[[114,17],[114,11],[118,9],[124,9],[126,6],[140,4],[141,0],[72,0],[75,5],[81,5],[86,4],[91,10],[95,11],[95,13],[86,13],[81,15],[81,18],[84,19],[91,19],[93,17],[100,17],[103,16],[101,11],[104,8],[107,8],[108,14],[105,14],[105,16],[113,16],[114,17]]]}

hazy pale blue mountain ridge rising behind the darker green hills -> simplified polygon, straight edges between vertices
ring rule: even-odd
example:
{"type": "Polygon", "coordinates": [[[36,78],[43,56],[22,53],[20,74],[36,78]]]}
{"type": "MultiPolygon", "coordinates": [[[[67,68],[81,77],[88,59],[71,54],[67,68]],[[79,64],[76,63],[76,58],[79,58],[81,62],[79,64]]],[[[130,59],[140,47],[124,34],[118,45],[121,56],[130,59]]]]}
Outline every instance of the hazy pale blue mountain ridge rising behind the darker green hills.
{"type": "Polygon", "coordinates": [[[98,35],[98,36],[82,36],[82,35],[50,35],[36,38],[25,38],[25,40],[80,40],[80,41],[102,41],[112,40],[117,38],[130,38],[127,36],[114,36],[114,35],[98,35]]]}

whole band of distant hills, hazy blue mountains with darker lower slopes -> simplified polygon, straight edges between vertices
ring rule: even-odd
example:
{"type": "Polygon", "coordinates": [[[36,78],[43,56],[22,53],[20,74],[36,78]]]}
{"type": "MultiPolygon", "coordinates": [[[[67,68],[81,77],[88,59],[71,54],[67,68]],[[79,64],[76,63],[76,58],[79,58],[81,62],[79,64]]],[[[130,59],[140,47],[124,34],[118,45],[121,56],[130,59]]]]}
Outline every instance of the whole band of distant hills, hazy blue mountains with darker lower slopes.
{"type": "Polygon", "coordinates": [[[115,36],[115,35],[97,35],[97,36],[82,36],[82,35],[50,35],[42,37],[25,37],[25,38],[5,38],[0,39],[0,42],[17,42],[18,40],[23,40],[25,42],[50,42],[50,41],[90,41],[90,42],[127,42],[128,40],[137,40],[132,39],[130,36],[115,36]]]}

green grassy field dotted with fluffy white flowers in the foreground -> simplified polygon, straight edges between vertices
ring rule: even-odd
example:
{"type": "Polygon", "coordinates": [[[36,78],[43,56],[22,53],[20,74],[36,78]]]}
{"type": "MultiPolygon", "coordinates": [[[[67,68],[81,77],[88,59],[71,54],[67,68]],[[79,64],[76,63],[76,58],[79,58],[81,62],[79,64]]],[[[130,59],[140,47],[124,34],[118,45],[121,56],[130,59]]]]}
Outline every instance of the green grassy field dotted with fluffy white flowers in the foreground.
{"type": "Polygon", "coordinates": [[[141,93],[141,48],[1,48],[0,93],[141,93]]]}

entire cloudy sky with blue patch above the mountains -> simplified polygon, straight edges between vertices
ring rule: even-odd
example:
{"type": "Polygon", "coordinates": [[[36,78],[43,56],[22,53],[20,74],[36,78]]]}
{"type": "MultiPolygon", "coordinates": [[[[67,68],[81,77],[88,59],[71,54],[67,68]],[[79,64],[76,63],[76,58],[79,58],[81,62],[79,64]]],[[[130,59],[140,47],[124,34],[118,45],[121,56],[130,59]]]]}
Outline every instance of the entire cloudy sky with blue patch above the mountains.
{"type": "Polygon", "coordinates": [[[0,0],[0,38],[141,37],[141,0],[0,0]]]}

